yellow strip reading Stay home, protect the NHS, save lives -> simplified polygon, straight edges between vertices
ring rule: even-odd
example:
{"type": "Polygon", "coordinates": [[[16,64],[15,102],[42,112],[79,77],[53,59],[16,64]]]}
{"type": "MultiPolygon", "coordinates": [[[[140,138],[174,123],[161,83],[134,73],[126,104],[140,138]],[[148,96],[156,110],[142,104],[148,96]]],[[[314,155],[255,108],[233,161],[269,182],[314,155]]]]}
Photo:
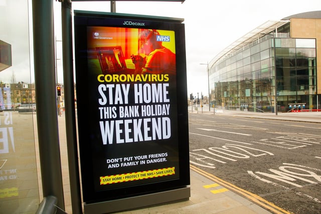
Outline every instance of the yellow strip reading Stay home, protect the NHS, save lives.
{"type": "Polygon", "coordinates": [[[127,182],[133,180],[148,179],[154,177],[161,177],[175,174],[175,167],[168,167],[162,169],[152,169],[147,171],[131,172],[125,174],[115,174],[100,177],[100,185],[127,182]]]}

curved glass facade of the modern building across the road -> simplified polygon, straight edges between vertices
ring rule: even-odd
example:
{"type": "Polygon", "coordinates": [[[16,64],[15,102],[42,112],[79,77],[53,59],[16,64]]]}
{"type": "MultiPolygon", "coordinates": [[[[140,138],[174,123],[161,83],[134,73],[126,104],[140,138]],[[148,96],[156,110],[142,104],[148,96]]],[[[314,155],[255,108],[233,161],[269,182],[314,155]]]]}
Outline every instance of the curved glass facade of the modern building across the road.
{"type": "Polygon", "coordinates": [[[315,44],[287,33],[275,41],[262,36],[210,68],[212,101],[230,110],[274,112],[277,95],[278,111],[316,108],[315,44]]]}

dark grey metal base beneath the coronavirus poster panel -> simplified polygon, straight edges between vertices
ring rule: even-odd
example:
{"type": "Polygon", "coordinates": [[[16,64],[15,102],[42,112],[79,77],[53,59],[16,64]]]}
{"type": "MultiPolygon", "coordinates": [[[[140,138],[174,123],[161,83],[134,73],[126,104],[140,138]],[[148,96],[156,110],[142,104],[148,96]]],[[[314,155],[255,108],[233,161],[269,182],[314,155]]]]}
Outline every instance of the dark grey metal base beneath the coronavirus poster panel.
{"type": "Polygon", "coordinates": [[[116,200],[109,200],[97,203],[84,203],[84,211],[85,213],[90,214],[117,212],[128,209],[153,206],[162,203],[189,200],[190,196],[191,188],[187,186],[179,189],[155,192],[151,194],[121,198],[116,200]]]}

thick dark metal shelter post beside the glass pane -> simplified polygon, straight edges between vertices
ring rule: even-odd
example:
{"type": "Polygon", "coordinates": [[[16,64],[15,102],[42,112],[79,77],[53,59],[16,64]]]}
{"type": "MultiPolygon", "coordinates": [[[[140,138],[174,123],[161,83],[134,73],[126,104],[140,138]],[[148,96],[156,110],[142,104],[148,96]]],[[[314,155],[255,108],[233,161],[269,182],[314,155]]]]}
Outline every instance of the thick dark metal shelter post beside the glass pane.
{"type": "Polygon", "coordinates": [[[57,197],[65,208],[58,131],[52,0],[33,1],[37,127],[43,196],[57,197]]]}

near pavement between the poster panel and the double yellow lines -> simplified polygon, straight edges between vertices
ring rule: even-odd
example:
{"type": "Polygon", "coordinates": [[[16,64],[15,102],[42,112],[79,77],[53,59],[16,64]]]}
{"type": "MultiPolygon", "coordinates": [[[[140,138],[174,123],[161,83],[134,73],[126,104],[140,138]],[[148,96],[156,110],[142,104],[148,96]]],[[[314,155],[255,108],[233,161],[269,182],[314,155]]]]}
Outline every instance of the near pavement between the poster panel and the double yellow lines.
{"type": "Polygon", "coordinates": [[[225,186],[191,170],[191,197],[189,200],[155,205],[119,213],[221,213],[267,214],[270,211],[240,196],[225,186]]]}

